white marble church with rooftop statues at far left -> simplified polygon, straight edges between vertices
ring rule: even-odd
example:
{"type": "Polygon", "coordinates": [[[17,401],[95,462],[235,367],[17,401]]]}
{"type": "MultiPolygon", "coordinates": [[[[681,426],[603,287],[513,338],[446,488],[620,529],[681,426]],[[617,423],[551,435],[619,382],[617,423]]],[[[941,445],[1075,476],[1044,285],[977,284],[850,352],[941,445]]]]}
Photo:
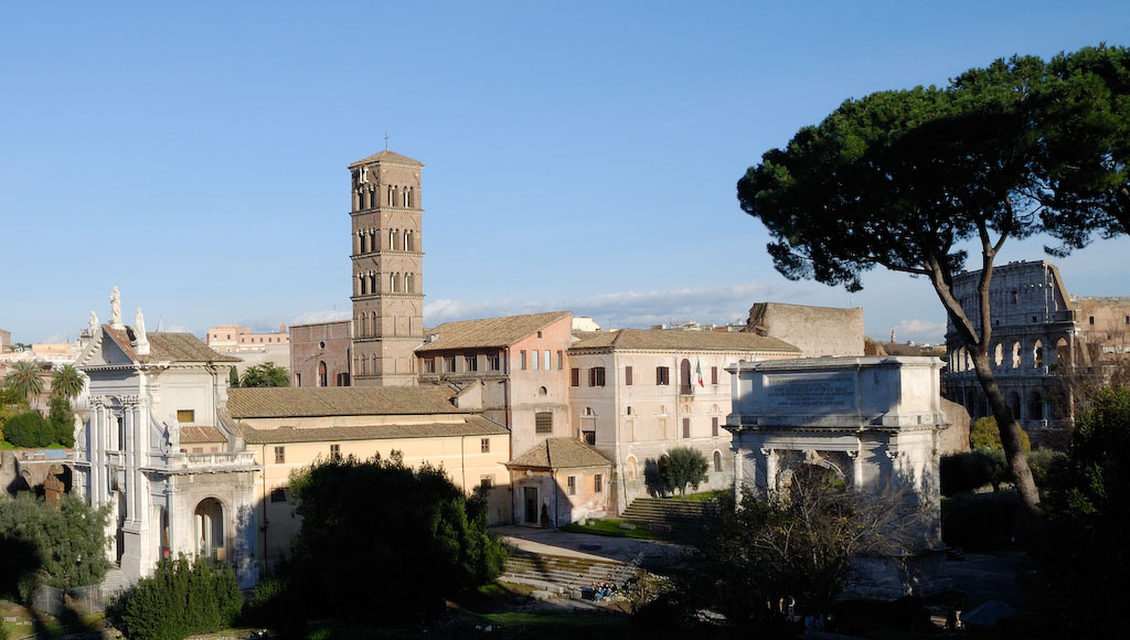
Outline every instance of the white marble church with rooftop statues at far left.
{"type": "Polygon", "coordinates": [[[232,563],[253,585],[259,467],[217,410],[232,358],[186,334],[144,331],[105,325],[85,336],[73,491],[112,505],[107,556],[131,582],[183,553],[232,563]],[[182,427],[218,431],[227,444],[185,452],[182,427]]]}

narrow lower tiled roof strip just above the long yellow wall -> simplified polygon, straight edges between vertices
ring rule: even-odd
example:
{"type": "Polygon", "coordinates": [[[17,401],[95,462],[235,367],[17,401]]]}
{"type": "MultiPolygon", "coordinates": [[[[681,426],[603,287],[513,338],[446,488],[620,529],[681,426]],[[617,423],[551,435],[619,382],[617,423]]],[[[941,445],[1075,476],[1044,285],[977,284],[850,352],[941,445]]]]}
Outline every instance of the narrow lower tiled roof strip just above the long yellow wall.
{"type": "MultiPolygon", "coordinates": [[[[325,426],[308,429],[254,429],[243,423],[236,432],[247,444],[281,444],[287,442],[338,442],[346,440],[393,440],[403,438],[454,438],[460,435],[505,435],[510,431],[483,416],[463,416],[453,423],[420,422],[415,424],[379,424],[325,426]]],[[[476,443],[477,446],[478,443],[476,443]]]]}

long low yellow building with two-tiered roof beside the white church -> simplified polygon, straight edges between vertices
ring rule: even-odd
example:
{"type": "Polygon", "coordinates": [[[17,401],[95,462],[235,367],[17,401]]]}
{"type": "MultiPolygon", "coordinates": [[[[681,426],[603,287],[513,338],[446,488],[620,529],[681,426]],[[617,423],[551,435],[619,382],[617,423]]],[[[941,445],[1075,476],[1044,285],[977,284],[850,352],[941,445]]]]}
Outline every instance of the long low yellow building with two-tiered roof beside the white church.
{"type": "Polygon", "coordinates": [[[428,462],[467,493],[488,487],[490,524],[511,521],[510,433],[458,400],[438,386],[232,389],[227,415],[262,469],[254,491],[266,565],[289,551],[298,530],[290,474],[319,460],[399,455],[409,466],[428,462]]]}

